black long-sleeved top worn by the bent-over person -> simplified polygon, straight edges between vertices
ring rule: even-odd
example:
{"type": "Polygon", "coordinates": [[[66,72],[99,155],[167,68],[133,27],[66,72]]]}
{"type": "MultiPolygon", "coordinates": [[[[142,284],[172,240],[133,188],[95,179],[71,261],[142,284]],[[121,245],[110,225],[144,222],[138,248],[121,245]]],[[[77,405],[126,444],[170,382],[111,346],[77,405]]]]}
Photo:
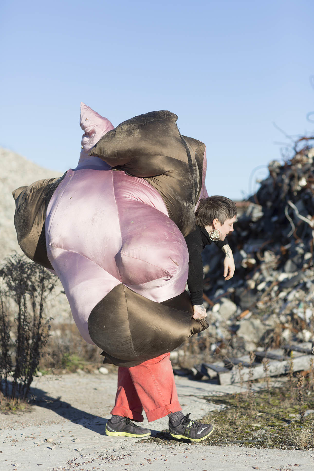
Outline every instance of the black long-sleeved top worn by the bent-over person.
{"type": "MultiPolygon", "coordinates": [[[[187,250],[189,252],[189,275],[187,278],[187,286],[190,291],[193,306],[203,304],[203,261],[201,252],[206,245],[213,241],[209,237],[209,233],[204,227],[196,226],[196,229],[185,237],[187,250]]],[[[214,244],[222,249],[228,244],[225,240],[218,240],[214,244]]]]}

